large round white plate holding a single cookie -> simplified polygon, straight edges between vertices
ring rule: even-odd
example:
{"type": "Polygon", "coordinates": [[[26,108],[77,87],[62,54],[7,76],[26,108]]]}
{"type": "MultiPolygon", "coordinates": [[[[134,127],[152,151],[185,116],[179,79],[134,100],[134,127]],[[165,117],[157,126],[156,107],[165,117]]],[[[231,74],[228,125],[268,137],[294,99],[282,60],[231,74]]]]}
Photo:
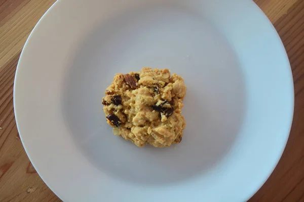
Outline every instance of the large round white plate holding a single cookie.
{"type": "Polygon", "coordinates": [[[28,38],[14,106],[35,169],[64,201],[244,201],[280,159],[293,115],[289,62],[247,0],[62,0],[28,38]],[[187,85],[180,144],[112,134],[115,73],[169,68],[187,85]]]}

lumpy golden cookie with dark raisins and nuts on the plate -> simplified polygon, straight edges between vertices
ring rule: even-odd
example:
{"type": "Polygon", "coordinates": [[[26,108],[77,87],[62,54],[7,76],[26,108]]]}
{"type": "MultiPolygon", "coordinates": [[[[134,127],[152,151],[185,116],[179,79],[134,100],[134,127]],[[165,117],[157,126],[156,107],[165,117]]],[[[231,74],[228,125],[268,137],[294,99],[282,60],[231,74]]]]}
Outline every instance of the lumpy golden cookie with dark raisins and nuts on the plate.
{"type": "Polygon", "coordinates": [[[139,147],[179,143],[185,120],[181,116],[186,86],[168,69],[142,68],[115,75],[102,98],[103,111],[113,133],[139,147]]]}

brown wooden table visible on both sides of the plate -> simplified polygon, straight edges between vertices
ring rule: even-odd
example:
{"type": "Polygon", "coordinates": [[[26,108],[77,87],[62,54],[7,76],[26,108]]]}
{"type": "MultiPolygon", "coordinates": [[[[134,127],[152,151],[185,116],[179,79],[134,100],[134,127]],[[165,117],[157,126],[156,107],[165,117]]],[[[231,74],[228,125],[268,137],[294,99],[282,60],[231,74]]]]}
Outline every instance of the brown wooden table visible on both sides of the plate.
{"type": "MultiPolygon", "coordinates": [[[[55,1],[0,0],[1,202],[61,201],[28,160],[13,109],[13,84],[20,52],[34,25],[55,1]]],[[[255,3],[269,17],[285,45],[294,79],[295,111],[282,159],[249,201],[304,201],[304,0],[255,3]]]]}

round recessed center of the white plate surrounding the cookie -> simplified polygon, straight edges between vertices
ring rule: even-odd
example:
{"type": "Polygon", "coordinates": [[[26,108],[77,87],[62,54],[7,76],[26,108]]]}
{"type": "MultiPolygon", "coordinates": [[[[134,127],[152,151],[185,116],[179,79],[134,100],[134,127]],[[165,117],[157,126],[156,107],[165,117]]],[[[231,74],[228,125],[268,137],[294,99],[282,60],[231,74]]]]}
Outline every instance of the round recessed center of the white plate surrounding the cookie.
{"type": "Polygon", "coordinates": [[[238,135],[245,105],[243,74],[225,38],[204,18],[166,7],[100,23],[75,54],[62,94],[71,134],[88,161],[117,180],[151,185],[216,166],[238,135]],[[180,144],[138,148],[106,124],[101,99],[113,76],[144,66],[168,68],[185,80],[180,144]]]}

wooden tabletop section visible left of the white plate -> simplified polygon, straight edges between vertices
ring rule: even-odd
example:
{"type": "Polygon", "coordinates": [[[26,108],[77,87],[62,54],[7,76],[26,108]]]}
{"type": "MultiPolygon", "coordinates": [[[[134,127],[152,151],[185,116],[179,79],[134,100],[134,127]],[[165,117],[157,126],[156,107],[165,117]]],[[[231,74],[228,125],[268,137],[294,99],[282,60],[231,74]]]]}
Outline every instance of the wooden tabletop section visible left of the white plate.
{"type": "Polygon", "coordinates": [[[31,166],[20,141],[13,84],[30,31],[55,0],[0,0],[0,201],[61,201],[31,166]]]}

